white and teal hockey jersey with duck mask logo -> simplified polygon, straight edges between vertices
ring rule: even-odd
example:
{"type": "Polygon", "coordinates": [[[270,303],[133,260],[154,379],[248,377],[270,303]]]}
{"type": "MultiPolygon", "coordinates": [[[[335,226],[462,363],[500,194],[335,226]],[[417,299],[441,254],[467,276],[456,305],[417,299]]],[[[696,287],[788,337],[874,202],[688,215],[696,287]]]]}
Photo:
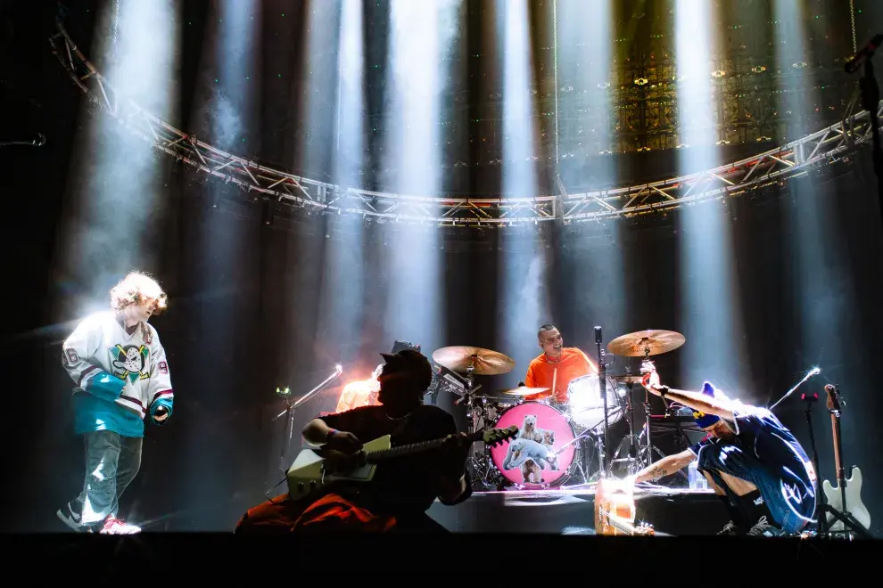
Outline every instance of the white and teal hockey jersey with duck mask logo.
{"type": "Polygon", "coordinates": [[[74,380],[77,432],[110,429],[144,436],[144,416],[164,405],[171,416],[174,393],[169,363],[153,325],[129,335],[113,311],[88,316],[62,345],[62,364],[74,380]]]}

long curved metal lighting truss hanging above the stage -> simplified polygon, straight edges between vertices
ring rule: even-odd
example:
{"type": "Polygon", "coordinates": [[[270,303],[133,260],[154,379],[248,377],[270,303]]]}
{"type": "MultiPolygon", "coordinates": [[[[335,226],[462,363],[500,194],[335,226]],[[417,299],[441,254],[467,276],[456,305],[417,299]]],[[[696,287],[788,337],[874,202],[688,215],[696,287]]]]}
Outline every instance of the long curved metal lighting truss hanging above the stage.
{"type": "MultiPolygon", "coordinates": [[[[49,43],[78,88],[155,149],[266,200],[316,212],[360,215],[379,222],[493,227],[647,215],[782,183],[871,143],[869,112],[853,113],[854,100],[841,122],[813,135],[748,159],[651,184],[568,194],[559,183],[561,194],[535,198],[469,199],[370,192],[295,176],[221,151],[117,94],[78,50],[61,21],[56,22],[49,43]]],[[[883,102],[879,104],[879,117],[883,118],[883,102]]]]}

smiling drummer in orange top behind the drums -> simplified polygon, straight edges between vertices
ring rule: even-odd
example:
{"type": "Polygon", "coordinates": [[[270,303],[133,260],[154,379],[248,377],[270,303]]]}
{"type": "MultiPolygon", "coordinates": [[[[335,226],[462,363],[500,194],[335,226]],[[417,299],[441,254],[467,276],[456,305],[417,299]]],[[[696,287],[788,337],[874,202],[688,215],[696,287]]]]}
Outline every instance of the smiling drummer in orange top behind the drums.
{"type": "Polygon", "coordinates": [[[550,396],[555,403],[567,403],[567,386],[571,380],[598,373],[588,355],[578,347],[564,347],[561,333],[551,324],[544,324],[537,332],[543,353],[527,366],[524,386],[549,388],[549,392],[525,396],[524,400],[540,400],[550,396]]]}

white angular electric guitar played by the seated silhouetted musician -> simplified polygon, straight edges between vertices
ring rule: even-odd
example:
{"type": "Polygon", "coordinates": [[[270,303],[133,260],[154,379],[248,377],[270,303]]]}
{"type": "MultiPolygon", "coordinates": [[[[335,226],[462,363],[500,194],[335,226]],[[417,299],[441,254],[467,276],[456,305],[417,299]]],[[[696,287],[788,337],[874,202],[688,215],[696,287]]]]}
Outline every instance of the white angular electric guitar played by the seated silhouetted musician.
{"type": "MultiPolygon", "coordinates": [[[[497,445],[517,434],[518,427],[512,425],[508,429],[476,431],[466,438],[470,444],[483,441],[486,445],[497,445]]],[[[336,482],[369,483],[374,478],[377,464],[432,451],[441,447],[443,442],[442,438],[392,447],[391,437],[386,435],[369,441],[353,456],[343,456],[326,449],[304,449],[288,470],[288,496],[298,501],[311,494],[319,494],[336,482]]]]}

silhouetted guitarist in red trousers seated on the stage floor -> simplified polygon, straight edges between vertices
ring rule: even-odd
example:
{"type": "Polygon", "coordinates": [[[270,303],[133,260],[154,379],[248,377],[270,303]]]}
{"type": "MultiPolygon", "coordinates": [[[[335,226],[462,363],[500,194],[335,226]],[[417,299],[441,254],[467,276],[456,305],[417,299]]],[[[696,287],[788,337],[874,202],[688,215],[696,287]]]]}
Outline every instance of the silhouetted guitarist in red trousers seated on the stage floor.
{"type": "Polygon", "coordinates": [[[457,433],[448,412],[423,404],[433,377],[425,355],[413,349],[381,355],[381,404],[309,421],[303,437],[342,459],[385,435],[392,436],[393,447],[445,438],[442,447],[383,463],[369,483],[341,482],[318,498],[295,502],[283,495],[264,502],[244,514],[236,533],[446,532],[426,510],[436,498],[454,505],[472,494],[466,434],[457,433]]]}

